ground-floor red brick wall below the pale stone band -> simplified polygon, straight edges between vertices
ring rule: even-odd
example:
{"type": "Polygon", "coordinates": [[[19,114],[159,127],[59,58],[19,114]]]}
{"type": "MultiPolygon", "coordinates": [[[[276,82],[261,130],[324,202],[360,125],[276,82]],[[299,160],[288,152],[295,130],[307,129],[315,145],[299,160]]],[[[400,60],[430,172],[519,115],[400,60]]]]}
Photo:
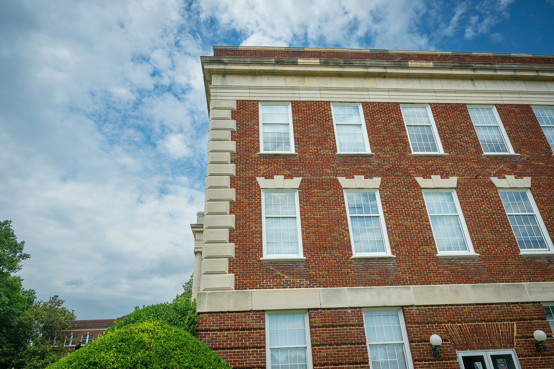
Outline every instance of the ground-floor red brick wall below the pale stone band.
{"type": "MultiPolygon", "coordinates": [[[[475,349],[515,348],[522,369],[554,367],[553,352],[539,354],[533,343],[536,329],[552,336],[541,304],[404,306],[403,314],[416,369],[458,367],[447,325],[501,322],[514,327],[514,343],[495,347],[481,339],[483,346],[475,349]],[[442,357],[433,357],[429,344],[432,334],[443,339],[442,357]]],[[[264,311],[202,313],[198,315],[197,337],[234,368],[265,368],[264,316],[264,311]]],[[[314,368],[369,369],[361,309],[310,310],[309,319],[314,368]]]]}

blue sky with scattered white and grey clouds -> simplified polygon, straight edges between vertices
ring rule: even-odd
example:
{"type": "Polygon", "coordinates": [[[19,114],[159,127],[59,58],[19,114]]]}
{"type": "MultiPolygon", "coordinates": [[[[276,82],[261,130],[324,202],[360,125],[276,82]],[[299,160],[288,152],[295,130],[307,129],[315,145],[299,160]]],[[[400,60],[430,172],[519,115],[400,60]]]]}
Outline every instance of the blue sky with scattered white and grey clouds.
{"type": "Polygon", "coordinates": [[[0,220],[78,319],[192,273],[212,45],[554,54],[554,0],[3,0],[0,220]]]}

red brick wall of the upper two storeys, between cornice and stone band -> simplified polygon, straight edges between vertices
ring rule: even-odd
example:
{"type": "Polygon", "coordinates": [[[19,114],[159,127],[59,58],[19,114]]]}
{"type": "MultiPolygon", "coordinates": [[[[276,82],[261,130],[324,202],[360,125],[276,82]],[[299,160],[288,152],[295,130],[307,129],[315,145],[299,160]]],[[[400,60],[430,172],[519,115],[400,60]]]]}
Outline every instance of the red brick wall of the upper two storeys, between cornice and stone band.
{"type": "Polygon", "coordinates": [[[292,102],[298,157],[259,157],[257,101],[237,101],[232,118],[237,191],[230,213],[235,289],[361,287],[402,284],[512,283],[553,280],[553,258],[522,258],[500,196],[488,176],[532,176],[531,191],[546,227],[554,225],[554,158],[529,105],[496,105],[519,158],[482,156],[465,104],[431,104],[448,157],[412,157],[398,103],[363,103],[375,157],[336,157],[329,102],[292,102]],[[480,173],[480,177],[475,176],[480,173]],[[256,176],[301,176],[305,262],[260,262],[261,195],[256,176]],[[479,259],[439,259],[415,176],[458,176],[460,201],[479,259]],[[342,188],[337,176],[382,177],[381,201],[396,259],[352,261],[342,188]]]}

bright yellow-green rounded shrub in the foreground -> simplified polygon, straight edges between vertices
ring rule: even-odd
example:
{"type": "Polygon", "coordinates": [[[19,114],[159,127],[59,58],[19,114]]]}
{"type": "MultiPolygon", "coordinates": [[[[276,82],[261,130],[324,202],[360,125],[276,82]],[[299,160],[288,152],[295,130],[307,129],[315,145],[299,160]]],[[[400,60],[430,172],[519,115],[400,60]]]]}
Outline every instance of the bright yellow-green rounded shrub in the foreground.
{"type": "Polygon", "coordinates": [[[48,369],[230,369],[219,356],[183,329],[144,321],[108,331],[48,369]]]}

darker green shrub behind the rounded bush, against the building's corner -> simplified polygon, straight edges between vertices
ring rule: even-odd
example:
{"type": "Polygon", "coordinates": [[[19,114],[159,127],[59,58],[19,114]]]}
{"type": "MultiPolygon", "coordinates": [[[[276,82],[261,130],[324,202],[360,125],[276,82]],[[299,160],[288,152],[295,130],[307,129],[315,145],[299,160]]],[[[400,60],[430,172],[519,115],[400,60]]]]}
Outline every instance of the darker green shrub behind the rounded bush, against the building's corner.
{"type": "Polygon", "coordinates": [[[108,331],[122,328],[130,324],[142,323],[143,321],[157,320],[184,329],[193,336],[196,335],[196,300],[191,300],[192,276],[191,279],[183,285],[183,288],[184,292],[177,295],[172,303],[148,306],[142,305],[142,308],[135,306],[135,311],[112,325],[108,331]]]}

